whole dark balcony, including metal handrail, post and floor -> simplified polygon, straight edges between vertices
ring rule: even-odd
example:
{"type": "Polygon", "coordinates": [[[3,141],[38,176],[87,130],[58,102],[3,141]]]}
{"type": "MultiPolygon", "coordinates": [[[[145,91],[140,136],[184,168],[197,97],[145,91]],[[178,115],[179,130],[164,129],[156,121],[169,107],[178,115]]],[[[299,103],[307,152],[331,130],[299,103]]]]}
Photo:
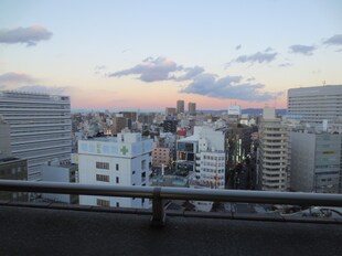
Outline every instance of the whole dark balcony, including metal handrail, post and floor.
{"type": "MultiPolygon", "coordinates": [[[[248,191],[121,188],[0,182],[1,190],[195,200],[317,203],[342,206],[342,195],[248,191]],[[136,190],[137,189],[137,190],[136,190]],[[138,191],[140,191],[138,193],[138,191]],[[157,196],[153,195],[156,193],[157,196]]],[[[341,218],[250,216],[232,212],[167,211],[149,225],[151,210],[55,203],[0,202],[1,255],[340,255],[341,218]]]]}

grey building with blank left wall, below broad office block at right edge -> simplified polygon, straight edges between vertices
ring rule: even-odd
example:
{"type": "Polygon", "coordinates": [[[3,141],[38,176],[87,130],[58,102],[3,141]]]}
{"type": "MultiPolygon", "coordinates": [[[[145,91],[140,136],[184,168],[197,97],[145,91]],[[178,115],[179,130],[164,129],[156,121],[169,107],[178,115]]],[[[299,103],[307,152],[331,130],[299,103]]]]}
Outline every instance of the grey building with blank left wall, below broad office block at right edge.
{"type": "Polygon", "coordinates": [[[341,193],[342,135],[291,132],[290,189],[341,193]]]}

